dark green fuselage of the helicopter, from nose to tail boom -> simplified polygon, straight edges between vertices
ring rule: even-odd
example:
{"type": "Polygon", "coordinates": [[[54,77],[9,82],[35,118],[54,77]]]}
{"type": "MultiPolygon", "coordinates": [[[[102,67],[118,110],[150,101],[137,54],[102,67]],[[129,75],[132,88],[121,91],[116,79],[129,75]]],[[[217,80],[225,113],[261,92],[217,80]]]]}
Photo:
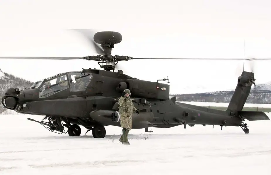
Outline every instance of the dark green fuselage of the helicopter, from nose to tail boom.
{"type": "MultiPolygon", "coordinates": [[[[236,87],[236,93],[239,86],[236,87]]],[[[250,86],[245,88],[250,90],[250,86]]],[[[186,124],[220,125],[221,129],[222,126],[242,126],[243,118],[238,113],[233,113],[233,109],[221,111],[178,103],[175,97],[169,98],[169,85],[132,78],[122,71],[83,69],[58,74],[36,82],[29,89],[10,88],[3,97],[2,104],[18,113],[62,119],[67,123],[64,126],[68,128],[71,124],[82,125],[87,129],[97,125],[120,126],[118,98],[125,89],[131,91],[131,99],[139,110],[139,114],[134,113],[132,117],[134,129],[169,128],[186,124]]],[[[233,101],[238,97],[235,96],[233,101]]],[[[237,102],[236,109],[240,108],[238,105],[242,105],[243,102],[240,101],[240,104],[237,102]]],[[[267,120],[267,116],[262,113],[261,117],[262,120],[267,120]]]]}

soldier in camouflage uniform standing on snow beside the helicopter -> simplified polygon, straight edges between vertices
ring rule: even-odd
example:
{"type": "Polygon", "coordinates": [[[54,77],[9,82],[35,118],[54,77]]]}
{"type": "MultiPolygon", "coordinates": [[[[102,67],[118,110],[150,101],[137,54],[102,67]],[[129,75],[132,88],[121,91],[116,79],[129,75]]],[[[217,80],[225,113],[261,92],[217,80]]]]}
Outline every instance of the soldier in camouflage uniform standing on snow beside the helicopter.
{"type": "Polygon", "coordinates": [[[122,127],[120,142],[125,145],[130,144],[128,141],[128,133],[132,128],[132,115],[134,112],[139,114],[137,108],[134,107],[130,95],[130,90],[125,89],[119,99],[120,126],[122,127]]]}

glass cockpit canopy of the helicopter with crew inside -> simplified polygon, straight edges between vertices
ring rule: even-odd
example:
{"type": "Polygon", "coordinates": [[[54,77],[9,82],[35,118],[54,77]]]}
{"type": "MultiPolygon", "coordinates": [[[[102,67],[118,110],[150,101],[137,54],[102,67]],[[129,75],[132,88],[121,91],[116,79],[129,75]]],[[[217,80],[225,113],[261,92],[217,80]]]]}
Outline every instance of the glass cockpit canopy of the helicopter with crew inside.
{"type": "Polygon", "coordinates": [[[66,89],[71,92],[84,91],[92,79],[92,74],[84,72],[68,72],[57,74],[45,82],[37,81],[31,87],[39,89],[39,97],[44,98],[66,89]],[[43,82],[43,83],[42,83],[43,82]]]}

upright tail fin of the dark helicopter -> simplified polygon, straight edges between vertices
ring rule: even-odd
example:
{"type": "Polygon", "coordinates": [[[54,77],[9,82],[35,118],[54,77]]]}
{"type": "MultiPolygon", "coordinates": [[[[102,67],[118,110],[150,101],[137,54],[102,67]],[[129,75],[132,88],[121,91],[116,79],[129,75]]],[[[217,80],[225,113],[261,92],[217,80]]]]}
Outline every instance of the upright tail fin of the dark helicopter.
{"type": "Polygon", "coordinates": [[[242,111],[250,93],[251,85],[255,85],[254,73],[243,71],[238,77],[237,86],[231,97],[227,111],[235,113],[242,111]]]}

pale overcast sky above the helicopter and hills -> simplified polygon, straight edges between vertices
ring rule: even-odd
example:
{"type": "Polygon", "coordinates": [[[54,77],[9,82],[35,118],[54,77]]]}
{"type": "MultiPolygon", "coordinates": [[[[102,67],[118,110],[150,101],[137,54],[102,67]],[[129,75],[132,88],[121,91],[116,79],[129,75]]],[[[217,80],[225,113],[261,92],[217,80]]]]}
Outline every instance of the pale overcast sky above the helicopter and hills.
{"type": "MultiPolygon", "coordinates": [[[[270,9],[268,0],[1,0],[0,56],[97,55],[86,39],[67,30],[89,28],[122,34],[112,55],[243,58],[245,40],[246,58],[266,58],[271,57],[270,9]]],[[[31,81],[95,64],[99,68],[86,60],[0,60],[4,72],[31,81]]],[[[242,60],[118,64],[125,74],[147,81],[168,76],[171,93],[179,94],[234,89],[243,70],[242,60]]],[[[256,83],[271,81],[270,65],[271,60],[255,63],[256,83]]]]}

